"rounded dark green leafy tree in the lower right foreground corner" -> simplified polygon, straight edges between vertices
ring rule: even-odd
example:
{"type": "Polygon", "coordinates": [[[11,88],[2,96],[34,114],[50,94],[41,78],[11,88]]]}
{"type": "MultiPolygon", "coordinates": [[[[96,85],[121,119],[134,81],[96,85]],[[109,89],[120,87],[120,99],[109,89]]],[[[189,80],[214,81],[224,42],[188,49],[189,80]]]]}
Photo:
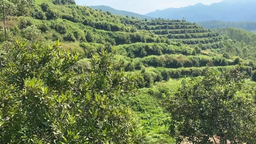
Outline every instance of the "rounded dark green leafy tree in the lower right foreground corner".
{"type": "Polygon", "coordinates": [[[245,78],[236,66],[223,73],[207,68],[204,77],[184,79],[182,87],[168,97],[169,130],[176,143],[188,138],[193,144],[213,144],[209,139],[217,135],[220,144],[255,144],[254,91],[244,85],[245,78]]]}

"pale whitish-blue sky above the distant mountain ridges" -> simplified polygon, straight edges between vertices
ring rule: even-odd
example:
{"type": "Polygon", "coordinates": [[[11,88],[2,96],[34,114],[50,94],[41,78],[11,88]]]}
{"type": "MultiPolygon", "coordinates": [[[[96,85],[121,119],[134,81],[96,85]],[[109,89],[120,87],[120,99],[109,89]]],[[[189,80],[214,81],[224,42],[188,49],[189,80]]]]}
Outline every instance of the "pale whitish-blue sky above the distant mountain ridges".
{"type": "Polygon", "coordinates": [[[169,7],[186,7],[203,3],[210,5],[222,0],[75,0],[78,5],[110,6],[118,10],[125,10],[140,14],[153,12],[157,9],[165,9],[169,7]]]}

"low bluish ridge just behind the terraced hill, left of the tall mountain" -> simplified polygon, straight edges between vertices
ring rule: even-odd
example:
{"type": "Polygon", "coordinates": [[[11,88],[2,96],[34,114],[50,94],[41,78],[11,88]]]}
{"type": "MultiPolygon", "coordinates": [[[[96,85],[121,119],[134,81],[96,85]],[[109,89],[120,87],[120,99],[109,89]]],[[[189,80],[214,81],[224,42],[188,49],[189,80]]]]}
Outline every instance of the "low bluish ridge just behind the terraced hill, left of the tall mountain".
{"type": "Polygon", "coordinates": [[[128,16],[128,17],[133,16],[133,17],[138,18],[138,19],[152,19],[152,17],[148,17],[148,16],[138,14],[138,13],[123,11],[123,10],[117,10],[117,9],[114,9],[112,7],[109,7],[109,6],[102,6],[101,5],[101,6],[89,6],[89,7],[93,8],[93,9],[101,10],[103,12],[109,11],[112,14],[118,14],[118,15],[122,15],[122,16],[128,16]]]}

